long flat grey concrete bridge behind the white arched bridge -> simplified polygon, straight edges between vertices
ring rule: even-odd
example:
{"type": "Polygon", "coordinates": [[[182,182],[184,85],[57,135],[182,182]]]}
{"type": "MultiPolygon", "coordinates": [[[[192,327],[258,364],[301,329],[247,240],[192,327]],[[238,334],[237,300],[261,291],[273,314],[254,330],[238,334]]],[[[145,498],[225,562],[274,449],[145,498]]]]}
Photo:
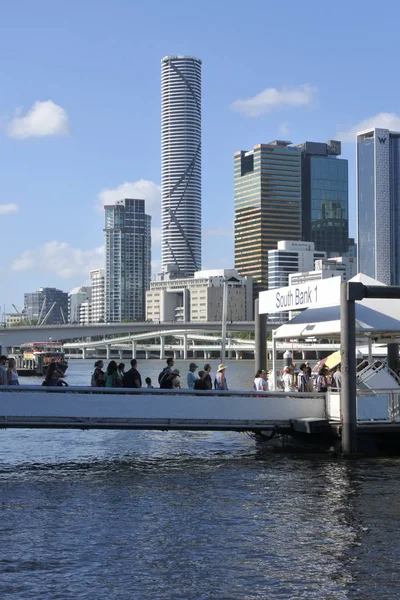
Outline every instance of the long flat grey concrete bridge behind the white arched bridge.
{"type": "MultiPolygon", "coordinates": [[[[220,333],[222,323],[220,321],[212,322],[179,322],[170,323],[152,323],[152,322],[133,322],[133,323],[92,323],[89,325],[40,325],[40,326],[18,326],[0,329],[0,347],[11,348],[24,342],[47,342],[52,340],[74,340],[79,338],[110,336],[118,334],[138,334],[159,331],[160,326],[163,330],[175,330],[182,327],[187,331],[202,331],[207,333],[220,333]]],[[[271,333],[278,325],[268,325],[268,332],[271,333]]],[[[227,331],[240,333],[254,332],[254,321],[233,321],[226,325],[227,331]]]]}

